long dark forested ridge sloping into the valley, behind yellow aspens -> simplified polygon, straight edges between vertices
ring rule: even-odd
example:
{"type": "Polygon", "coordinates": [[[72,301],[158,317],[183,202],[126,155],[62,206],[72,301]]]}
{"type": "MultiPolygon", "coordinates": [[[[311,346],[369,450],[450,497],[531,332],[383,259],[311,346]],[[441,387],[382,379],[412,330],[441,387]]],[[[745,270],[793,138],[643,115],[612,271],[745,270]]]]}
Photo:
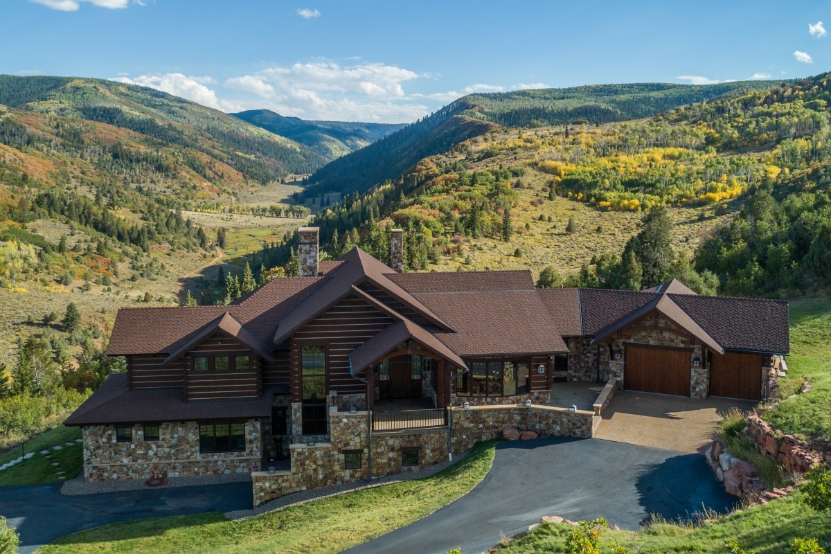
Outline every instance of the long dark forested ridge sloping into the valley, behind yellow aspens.
{"type": "Polygon", "coordinates": [[[427,156],[506,127],[539,127],[584,120],[591,124],[649,117],[681,105],[770,87],[741,81],[692,86],[661,83],[578,86],[465,96],[360,151],[317,170],[309,194],[363,193],[427,156]]]}

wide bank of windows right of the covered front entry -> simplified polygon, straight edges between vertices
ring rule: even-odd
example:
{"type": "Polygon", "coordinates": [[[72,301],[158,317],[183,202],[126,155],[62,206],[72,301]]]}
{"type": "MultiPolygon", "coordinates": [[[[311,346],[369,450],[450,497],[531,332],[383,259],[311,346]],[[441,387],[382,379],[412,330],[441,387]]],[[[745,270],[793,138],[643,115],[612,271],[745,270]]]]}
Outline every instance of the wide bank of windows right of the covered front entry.
{"type": "Polygon", "coordinates": [[[525,395],[529,392],[528,360],[487,360],[468,363],[456,375],[456,395],[474,397],[525,395]]]}

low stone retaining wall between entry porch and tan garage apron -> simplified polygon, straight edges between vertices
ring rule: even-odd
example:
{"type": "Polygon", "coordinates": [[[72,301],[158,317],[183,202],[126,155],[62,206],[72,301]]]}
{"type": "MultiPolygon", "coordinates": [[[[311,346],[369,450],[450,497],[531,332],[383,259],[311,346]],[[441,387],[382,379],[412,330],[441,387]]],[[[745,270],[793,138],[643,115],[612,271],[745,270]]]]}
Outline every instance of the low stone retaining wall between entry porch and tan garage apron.
{"type": "Polygon", "coordinates": [[[594,433],[594,413],[585,409],[570,412],[553,406],[514,404],[450,408],[448,411],[452,419],[450,445],[453,453],[465,452],[479,441],[500,437],[506,427],[534,431],[543,436],[588,439],[594,433]]]}

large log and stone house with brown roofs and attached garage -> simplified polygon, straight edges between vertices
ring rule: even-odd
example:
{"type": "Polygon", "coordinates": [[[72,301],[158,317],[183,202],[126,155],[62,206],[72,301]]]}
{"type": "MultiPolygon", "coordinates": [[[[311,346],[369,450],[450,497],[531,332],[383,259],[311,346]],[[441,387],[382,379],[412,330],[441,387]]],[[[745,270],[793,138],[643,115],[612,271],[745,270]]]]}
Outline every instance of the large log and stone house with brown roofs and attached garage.
{"type": "Polygon", "coordinates": [[[597,414],[548,405],[559,381],[706,398],[774,393],[788,304],[534,288],[529,271],[404,273],[360,248],[228,306],[125,308],[124,355],[67,425],[90,481],[253,473],[254,503],[420,468],[505,426],[592,436],[597,414]],[[281,460],[284,460],[281,462],[281,460]]]}

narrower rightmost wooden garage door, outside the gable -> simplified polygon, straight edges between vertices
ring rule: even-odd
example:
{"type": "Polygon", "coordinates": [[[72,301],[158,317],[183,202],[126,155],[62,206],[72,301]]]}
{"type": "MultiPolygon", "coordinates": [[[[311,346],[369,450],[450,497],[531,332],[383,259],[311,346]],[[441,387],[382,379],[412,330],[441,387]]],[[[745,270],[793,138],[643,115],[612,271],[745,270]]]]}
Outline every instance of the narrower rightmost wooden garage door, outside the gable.
{"type": "Polygon", "coordinates": [[[711,355],[710,395],[762,400],[762,356],[744,352],[711,355]]]}

